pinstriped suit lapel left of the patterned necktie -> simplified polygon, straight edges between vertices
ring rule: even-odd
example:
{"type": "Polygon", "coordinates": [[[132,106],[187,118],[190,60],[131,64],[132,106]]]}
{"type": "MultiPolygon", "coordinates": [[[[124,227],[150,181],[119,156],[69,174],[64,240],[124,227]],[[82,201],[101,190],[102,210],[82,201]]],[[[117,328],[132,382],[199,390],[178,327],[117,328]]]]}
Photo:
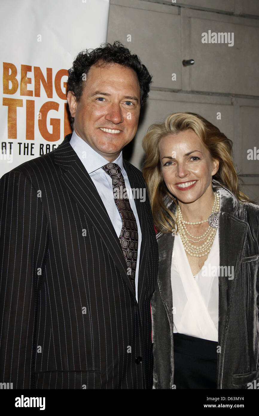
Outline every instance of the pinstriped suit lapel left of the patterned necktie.
{"type": "Polygon", "coordinates": [[[54,161],[62,168],[61,180],[70,196],[94,225],[101,239],[111,254],[123,280],[135,297],[127,275],[126,262],[121,250],[121,244],[115,233],[109,215],[105,209],[93,181],[83,163],[69,144],[70,136],[66,136],[61,145],[54,151],[54,161]]]}

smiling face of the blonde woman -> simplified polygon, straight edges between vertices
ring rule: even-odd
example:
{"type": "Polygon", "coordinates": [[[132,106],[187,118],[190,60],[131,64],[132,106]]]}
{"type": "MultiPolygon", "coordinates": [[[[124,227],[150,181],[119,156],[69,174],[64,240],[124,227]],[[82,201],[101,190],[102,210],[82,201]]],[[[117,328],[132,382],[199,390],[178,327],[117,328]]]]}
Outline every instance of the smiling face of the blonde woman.
{"type": "Polygon", "coordinates": [[[193,130],[165,136],[159,143],[160,162],[165,184],[178,201],[191,203],[207,191],[219,162],[193,130]]]}

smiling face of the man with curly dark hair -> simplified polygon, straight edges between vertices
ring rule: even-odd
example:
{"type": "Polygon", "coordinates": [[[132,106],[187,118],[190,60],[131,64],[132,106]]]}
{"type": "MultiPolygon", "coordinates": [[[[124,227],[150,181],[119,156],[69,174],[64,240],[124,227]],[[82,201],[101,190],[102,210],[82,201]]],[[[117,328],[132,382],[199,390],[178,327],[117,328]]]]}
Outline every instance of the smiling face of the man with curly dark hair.
{"type": "Polygon", "coordinates": [[[136,134],[140,87],[136,73],[128,67],[93,65],[80,101],[71,91],[67,101],[76,134],[110,162],[136,134]]]}

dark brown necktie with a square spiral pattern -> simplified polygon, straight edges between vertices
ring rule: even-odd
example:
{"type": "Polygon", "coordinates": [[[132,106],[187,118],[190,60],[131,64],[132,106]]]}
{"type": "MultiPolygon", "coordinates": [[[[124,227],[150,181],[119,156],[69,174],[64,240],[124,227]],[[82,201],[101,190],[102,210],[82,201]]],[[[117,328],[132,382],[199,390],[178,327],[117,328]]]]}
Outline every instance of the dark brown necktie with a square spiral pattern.
{"type": "Polygon", "coordinates": [[[138,226],[136,218],[128,200],[121,168],[117,163],[111,162],[102,166],[102,169],[104,169],[112,179],[114,201],[122,220],[119,240],[126,260],[127,274],[131,280],[133,289],[135,289],[135,273],[138,257],[138,226]]]}

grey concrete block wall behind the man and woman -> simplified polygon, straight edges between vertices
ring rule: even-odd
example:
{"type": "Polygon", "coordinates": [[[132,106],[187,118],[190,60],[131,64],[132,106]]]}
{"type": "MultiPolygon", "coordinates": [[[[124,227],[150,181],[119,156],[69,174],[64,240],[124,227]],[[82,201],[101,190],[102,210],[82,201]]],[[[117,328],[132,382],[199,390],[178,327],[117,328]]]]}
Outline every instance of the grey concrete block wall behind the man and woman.
{"type": "Polygon", "coordinates": [[[259,160],[249,158],[252,149],[259,159],[259,1],[110,0],[107,41],[114,40],[153,75],[138,132],[125,149],[128,160],[141,169],[150,124],[176,111],[195,112],[233,141],[243,191],[259,203],[259,160]],[[227,32],[229,41],[202,43],[203,32],[227,32]],[[191,58],[195,64],[183,67],[191,58]]]}

